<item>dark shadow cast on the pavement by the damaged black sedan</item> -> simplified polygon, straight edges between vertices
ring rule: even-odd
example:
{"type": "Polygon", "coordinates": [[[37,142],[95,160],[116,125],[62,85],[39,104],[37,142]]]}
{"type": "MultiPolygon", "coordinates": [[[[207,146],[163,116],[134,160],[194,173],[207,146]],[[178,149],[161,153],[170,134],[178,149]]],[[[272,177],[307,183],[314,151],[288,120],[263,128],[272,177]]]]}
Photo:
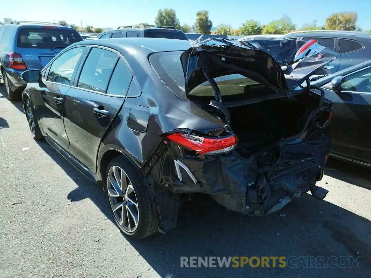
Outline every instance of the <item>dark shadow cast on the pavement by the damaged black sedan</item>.
{"type": "MultiPolygon", "coordinates": [[[[114,222],[106,193],[85,178],[46,142],[40,147],[78,185],[67,196],[72,202],[91,199],[114,222]]],[[[131,245],[164,278],[188,277],[369,277],[371,222],[309,194],[282,211],[253,217],[228,211],[210,196],[194,194],[183,203],[177,228],[167,235],[142,240],[127,238],[131,245]],[[282,216],[280,216],[282,214],[282,216]],[[284,214],[284,215],[283,215],[284,214]],[[360,256],[360,268],[181,268],[180,257],[210,256],[360,256]]],[[[294,264],[298,259],[292,261],[294,264]]],[[[113,262],[114,263],[114,262],[113,262]]]]}

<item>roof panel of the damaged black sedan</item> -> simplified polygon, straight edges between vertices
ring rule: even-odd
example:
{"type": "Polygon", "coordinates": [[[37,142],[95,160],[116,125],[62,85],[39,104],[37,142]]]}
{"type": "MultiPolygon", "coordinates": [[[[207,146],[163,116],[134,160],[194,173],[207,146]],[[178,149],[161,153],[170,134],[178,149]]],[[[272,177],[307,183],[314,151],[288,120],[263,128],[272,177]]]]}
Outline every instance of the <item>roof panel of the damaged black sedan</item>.
{"type": "Polygon", "coordinates": [[[111,47],[122,53],[144,53],[153,52],[185,51],[191,47],[189,40],[174,40],[162,38],[114,38],[100,40],[83,40],[73,45],[88,44],[111,47]]]}

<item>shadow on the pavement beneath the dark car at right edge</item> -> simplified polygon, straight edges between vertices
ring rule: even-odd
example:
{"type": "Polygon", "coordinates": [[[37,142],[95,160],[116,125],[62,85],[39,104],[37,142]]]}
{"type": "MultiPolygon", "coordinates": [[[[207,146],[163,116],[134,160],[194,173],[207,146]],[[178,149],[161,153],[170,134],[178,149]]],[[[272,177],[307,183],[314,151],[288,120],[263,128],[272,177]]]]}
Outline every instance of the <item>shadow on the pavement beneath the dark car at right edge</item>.
{"type": "Polygon", "coordinates": [[[325,175],[352,185],[371,189],[371,171],[359,165],[330,158],[326,163],[325,175]]]}

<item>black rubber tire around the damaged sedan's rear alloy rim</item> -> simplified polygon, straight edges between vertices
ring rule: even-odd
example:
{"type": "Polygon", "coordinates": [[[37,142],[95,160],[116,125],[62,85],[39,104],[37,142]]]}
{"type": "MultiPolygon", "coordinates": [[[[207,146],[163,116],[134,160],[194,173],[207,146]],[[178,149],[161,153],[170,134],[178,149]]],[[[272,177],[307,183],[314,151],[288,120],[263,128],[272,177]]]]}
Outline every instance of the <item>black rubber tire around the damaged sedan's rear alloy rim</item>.
{"type": "MultiPolygon", "coordinates": [[[[145,238],[147,236],[150,236],[154,234],[155,232],[157,232],[158,228],[157,228],[156,215],[155,215],[155,212],[152,206],[151,197],[147,190],[147,186],[144,183],[143,176],[141,175],[139,170],[135,168],[135,166],[132,165],[131,162],[129,162],[127,158],[125,158],[125,156],[122,156],[122,155],[116,156],[114,159],[111,160],[111,162],[109,163],[106,169],[106,175],[105,175],[103,183],[104,183],[105,188],[107,189],[107,195],[110,200],[109,202],[112,208],[112,213],[114,214],[116,225],[120,228],[122,232],[124,232],[124,234],[128,235],[131,238],[140,239],[140,238],[145,238]],[[122,225],[119,223],[120,219],[118,219],[118,215],[116,214],[116,212],[114,212],[113,203],[115,202],[115,198],[116,198],[116,204],[120,203],[122,199],[122,197],[112,197],[109,193],[109,192],[112,192],[112,190],[110,191],[110,187],[112,186],[112,183],[108,181],[109,174],[111,173],[110,178],[112,178],[112,171],[113,171],[112,169],[118,169],[118,168],[114,168],[114,166],[119,167],[119,169],[121,168],[121,170],[124,171],[122,175],[126,173],[126,176],[128,178],[127,181],[131,182],[131,185],[134,188],[134,194],[135,194],[134,196],[137,202],[138,221],[137,221],[136,229],[132,232],[127,231],[128,227],[125,227],[124,223],[122,225]]],[[[125,193],[123,193],[123,195],[125,195],[125,193]]],[[[125,199],[123,199],[123,201],[125,201],[125,199]]],[[[119,210],[116,210],[116,211],[119,211],[119,210]]],[[[127,220],[125,221],[127,223],[130,222],[128,217],[129,216],[127,216],[126,218],[127,220]]]]}

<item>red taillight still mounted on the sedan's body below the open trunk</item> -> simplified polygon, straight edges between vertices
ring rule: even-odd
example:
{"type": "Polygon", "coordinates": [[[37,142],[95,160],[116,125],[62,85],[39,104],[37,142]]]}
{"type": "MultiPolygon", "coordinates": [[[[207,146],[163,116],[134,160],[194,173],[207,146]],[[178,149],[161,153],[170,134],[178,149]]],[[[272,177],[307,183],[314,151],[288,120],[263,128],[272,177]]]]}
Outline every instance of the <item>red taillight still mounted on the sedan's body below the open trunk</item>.
{"type": "Polygon", "coordinates": [[[226,137],[201,137],[186,133],[174,133],[167,136],[171,142],[182,145],[184,148],[194,150],[200,155],[216,155],[229,152],[237,145],[236,135],[226,137]]]}

